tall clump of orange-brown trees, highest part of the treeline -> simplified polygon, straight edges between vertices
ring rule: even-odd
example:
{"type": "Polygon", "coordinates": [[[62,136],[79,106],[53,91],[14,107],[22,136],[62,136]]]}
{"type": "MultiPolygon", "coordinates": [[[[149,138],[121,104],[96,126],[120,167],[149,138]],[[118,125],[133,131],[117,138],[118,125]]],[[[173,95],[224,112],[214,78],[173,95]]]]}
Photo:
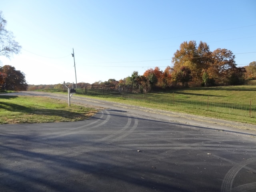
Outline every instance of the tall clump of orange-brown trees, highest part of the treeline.
{"type": "MultiPolygon", "coordinates": [[[[241,84],[244,80],[245,68],[237,68],[235,56],[230,50],[216,49],[210,51],[209,46],[200,42],[197,46],[196,41],[183,42],[180,50],[174,53],[172,62],[176,74],[182,67],[190,69],[192,75],[192,86],[204,85],[233,85],[241,84]],[[234,81],[234,77],[237,81],[234,81]],[[207,83],[208,82],[208,83],[207,83]]],[[[177,80],[176,82],[181,82],[177,80]]]]}

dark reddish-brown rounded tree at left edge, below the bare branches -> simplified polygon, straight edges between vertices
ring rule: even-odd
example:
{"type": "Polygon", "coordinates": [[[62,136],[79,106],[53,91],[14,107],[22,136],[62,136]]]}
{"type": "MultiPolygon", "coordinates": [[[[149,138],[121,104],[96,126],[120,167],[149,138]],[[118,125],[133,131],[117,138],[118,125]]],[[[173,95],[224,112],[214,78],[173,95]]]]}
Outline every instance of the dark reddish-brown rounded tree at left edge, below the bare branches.
{"type": "Polygon", "coordinates": [[[15,70],[10,65],[0,67],[0,73],[6,74],[4,78],[4,90],[23,91],[26,90],[28,84],[26,83],[25,74],[21,71],[15,70]]]}

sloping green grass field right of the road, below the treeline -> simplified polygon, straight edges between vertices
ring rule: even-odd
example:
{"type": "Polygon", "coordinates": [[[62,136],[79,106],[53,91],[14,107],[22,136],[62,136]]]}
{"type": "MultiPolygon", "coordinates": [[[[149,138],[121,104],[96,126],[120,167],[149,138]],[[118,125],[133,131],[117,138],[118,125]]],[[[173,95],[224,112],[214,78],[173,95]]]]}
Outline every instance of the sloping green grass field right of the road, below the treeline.
{"type": "Polygon", "coordinates": [[[200,87],[116,96],[105,93],[92,98],[256,124],[255,96],[256,80],[252,80],[240,86],[200,87]]]}

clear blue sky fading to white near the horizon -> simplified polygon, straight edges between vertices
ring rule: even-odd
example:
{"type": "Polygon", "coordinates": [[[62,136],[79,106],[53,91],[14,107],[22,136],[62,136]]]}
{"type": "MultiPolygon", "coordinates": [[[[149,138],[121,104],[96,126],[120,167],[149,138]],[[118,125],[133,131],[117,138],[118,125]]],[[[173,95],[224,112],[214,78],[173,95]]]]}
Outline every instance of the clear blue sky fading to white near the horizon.
{"type": "Polygon", "coordinates": [[[237,66],[256,61],[255,0],[1,0],[22,46],[3,65],[28,84],[120,80],[173,66],[184,41],[226,48],[237,66]]]}

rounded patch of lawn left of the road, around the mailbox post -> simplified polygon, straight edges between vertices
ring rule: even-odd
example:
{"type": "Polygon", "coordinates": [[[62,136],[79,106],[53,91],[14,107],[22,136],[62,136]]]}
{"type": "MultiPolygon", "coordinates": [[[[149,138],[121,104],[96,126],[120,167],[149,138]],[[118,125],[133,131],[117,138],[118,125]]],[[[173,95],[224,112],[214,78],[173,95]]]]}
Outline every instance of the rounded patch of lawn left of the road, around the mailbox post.
{"type": "Polygon", "coordinates": [[[0,95],[0,124],[70,122],[96,113],[93,108],[71,105],[46,97],[0,95]]]}

